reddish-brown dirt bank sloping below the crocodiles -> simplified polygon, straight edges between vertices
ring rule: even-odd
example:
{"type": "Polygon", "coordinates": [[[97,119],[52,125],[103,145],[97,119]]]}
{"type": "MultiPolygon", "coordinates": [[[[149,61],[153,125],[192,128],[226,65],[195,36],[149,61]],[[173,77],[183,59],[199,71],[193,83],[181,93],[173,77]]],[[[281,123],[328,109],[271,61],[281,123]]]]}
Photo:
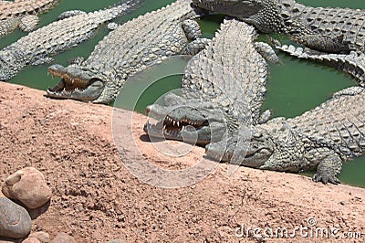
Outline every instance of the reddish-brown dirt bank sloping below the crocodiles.
{"type": "MultiPolygon", "coordinates": [[[[185,156],[156,149],[160,143],[143,136],[142,115],[129,120],[131,112],[120,111],[112,120],[109,106],[44,94],[0,82],[0,183],[34,166],[53,190],[47,211],[34,216],[32,232],[53,238],[65,232],[78,242],[365,239],[365,189],[245,167],[227,174],[232,167],[204,162],[202,148],[185,156]],[[325,238],[332,229],[338,231],[325,238]],[[275,238],[277,230],[284,238],[275,238]]],[[[171,144],[172,150],[190,149],[171,144]]]]}

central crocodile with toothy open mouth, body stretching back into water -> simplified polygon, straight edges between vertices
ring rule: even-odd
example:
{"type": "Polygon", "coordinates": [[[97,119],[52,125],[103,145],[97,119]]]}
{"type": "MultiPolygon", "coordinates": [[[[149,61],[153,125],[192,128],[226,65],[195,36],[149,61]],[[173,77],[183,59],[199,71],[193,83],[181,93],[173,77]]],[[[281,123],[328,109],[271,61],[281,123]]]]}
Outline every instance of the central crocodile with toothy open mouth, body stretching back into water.
{"type": "Polygon", "coordinates": [[[211,44],[185,67],[182,93],[168,93],[164,105],[146,108],[154,120],[144,126],[150,138],[205,146],[237,132],[238,124],[266,122],[269,114],[260,111],[268,66],[255,37],[253,26],[224,19],[211,44]]]}

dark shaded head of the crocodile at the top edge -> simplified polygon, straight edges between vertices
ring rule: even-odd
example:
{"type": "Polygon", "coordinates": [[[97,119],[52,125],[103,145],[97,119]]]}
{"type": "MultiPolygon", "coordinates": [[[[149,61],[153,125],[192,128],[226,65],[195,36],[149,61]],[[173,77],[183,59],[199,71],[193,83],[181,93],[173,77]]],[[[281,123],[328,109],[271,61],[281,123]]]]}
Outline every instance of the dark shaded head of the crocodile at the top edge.
{"type": "Polygon", "coordinates": [[[255,16],[265,1],[260,0],[193,0],[193,5],[216,13],[245,19],[255,16]]]}

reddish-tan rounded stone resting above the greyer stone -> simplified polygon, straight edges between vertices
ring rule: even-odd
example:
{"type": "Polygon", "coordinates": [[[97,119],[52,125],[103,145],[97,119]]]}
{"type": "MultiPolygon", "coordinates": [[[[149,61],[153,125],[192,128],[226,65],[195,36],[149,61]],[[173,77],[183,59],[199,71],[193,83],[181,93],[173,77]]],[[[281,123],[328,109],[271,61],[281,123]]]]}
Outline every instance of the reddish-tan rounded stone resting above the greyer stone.
{"type": "Polygon", "coordinates": [[[5,179],[2,189],[4,195],[19,200],[31,209],[44,205],[52,195],[43,174],[33,167],[11,174],[5,179]]]}

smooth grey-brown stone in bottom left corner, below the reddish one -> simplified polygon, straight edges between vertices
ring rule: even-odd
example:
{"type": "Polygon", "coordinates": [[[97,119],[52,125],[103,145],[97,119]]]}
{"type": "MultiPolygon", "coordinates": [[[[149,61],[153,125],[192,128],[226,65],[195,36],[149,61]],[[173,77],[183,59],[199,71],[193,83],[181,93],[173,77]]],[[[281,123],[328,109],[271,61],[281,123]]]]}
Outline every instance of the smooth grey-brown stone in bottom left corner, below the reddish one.
{"type": "Polygon", "coordinates": [[[0,197],[0,238],[24,238],[32,221],[26,208],[6,197],[0,197]]]}

